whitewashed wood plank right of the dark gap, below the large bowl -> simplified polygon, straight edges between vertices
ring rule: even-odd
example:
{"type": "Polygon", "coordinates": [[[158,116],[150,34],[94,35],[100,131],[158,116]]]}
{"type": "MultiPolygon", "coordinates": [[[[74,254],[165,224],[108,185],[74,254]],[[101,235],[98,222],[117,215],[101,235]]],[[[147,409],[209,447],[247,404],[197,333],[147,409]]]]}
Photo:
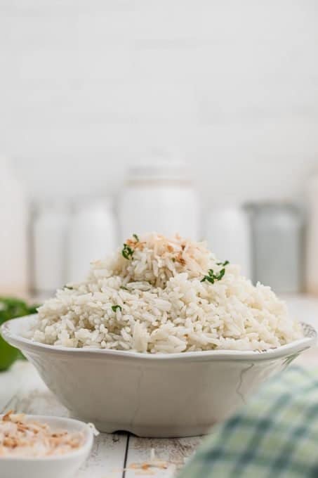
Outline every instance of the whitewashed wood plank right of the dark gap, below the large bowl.
{"type": "Polygon", "coordinates": [[[156,478],[172,478],[183,467],[201,442],[201,437],[180,439],[147,439],[129,437],[128,456],[125,478],[136,478],[140,475],[156,478]],[[147,466],[151,451],[159,460],[154,466],[147,466]],[[162,465],[162,467],[161,467],[162,465]]]}

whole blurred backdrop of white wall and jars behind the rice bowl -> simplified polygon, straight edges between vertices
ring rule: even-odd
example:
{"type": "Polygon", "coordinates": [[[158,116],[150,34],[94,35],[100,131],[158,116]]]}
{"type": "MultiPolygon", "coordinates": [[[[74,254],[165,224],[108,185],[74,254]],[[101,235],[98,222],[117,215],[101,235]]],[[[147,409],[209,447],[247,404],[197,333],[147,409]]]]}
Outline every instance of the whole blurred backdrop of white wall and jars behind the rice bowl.
{"type": "Polygon", "coordinates": [[[154,229],[318,293],[317,21],[314,0],[0,0],[0,294],[154,229]]]}

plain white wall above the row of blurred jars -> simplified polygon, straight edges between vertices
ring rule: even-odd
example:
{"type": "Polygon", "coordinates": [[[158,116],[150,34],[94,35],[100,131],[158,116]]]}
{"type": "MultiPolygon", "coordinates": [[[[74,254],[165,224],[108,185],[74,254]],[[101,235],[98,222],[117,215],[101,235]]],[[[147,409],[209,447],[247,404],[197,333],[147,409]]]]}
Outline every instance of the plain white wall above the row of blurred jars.
{"type": "Polygon", "coordinates": [[[209,202],[318,167],[316,0],[0,0],[0,151],[33,197],[114,193],[154,150],[209,202]]]}

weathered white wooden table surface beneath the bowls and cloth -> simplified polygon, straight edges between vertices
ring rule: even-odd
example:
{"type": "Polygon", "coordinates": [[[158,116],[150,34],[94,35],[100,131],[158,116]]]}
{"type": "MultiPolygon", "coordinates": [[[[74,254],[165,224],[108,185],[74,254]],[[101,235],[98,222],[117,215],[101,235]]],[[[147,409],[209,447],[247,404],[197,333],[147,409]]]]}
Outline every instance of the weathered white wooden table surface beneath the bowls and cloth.
{"type": "MultiPolygon", "coordinates": [[[[289,302],[291,314],[318,328],[318,299],[285,299],[289,302]]],[[[303,354],[298,362],[314,366],[318,365],[317,359],[318,349],[312,349],[303,354]]],[[[34,367],[25,361],[18,361],[11,370],[0,373],[0,413],[10,409],[37,415],[68,415],[67,409],[47,389],[34,367]]],[[[141,439],[129,434],[100,434],[95,439],[91,457],[77,478],[172,478],[200,441],[201,437],[141,439]],[[160,460],[166,462],[165,469],[143,469],[152,449],[160,460]]]]}

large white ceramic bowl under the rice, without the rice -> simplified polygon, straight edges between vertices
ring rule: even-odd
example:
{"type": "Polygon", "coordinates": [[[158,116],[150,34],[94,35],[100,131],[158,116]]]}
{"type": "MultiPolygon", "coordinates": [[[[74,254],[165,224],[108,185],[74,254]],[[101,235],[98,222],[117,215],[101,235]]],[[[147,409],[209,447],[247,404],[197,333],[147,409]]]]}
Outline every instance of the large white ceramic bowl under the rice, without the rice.
{"type": "Polygon", "coordinates": [[[303,339],[265,352],[138,354],[32,342],[22,337],[32,321],[34,316],[13,319],[1,333],[34,363],[72,415],[102,432],[126,430],[140,437],[208,432],[317,338],[303,324],[303,339]]]}

